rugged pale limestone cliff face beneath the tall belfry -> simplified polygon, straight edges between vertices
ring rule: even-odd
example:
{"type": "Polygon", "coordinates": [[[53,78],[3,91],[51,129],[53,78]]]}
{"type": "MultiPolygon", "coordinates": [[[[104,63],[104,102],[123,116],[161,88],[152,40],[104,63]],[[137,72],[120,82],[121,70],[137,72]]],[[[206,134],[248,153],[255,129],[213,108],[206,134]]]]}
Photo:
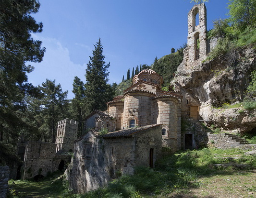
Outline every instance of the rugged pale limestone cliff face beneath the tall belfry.
{"type": "Polygon", "coordinates": [[[250,74],[255,68],[256,50],[253,45],[210,61],[190,63],[184,56],[171,82],[174,90],[183,96],[183,115],[189,111],[189,106],[196,105],[199,106],[199,115],[207,124],[236,132],[251,131],[256,127],[255,110],[242,112],[242,107],[213,107],[242,101],[250,82],[250,74]]]}

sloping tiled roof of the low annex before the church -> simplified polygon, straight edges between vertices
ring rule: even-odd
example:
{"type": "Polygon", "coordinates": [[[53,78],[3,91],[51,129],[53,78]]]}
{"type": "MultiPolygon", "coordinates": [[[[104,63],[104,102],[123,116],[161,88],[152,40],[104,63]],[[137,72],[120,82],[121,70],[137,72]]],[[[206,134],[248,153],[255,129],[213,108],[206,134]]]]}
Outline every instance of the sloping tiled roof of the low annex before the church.
{"type": "Polygon", "coordinates": [[[103,138],[132,137],[132,135],[134,133],[143,132],[147,129],[151,129],[151,128],[154,128],[154,127],[159,126],[159,125],[161,125],[161,124],[152,124],[152,125],[147,125],[147,126],[140,127],[140,128],[123,129],[123,130],[120,130],[120,131],[117,131],[117,132],[110,132],[108,134],[100,135],[100,136],[103,137],[103,138]]]}

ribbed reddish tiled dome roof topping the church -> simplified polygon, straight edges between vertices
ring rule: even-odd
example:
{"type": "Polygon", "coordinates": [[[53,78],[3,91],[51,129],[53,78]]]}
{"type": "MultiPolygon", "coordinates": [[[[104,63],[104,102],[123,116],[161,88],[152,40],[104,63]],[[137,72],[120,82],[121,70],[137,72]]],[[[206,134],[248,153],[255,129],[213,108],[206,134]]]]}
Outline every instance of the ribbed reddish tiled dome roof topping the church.
{"type": "Polygon", "coordinates": [[[133,84],[137,83],[140,80],[159,86],[163,84],[163,78],[160,77],[160,75],[158,75],[158,73],[152,69],[144,69],[140,73],[135,75],[133,78],[133,84]]]}

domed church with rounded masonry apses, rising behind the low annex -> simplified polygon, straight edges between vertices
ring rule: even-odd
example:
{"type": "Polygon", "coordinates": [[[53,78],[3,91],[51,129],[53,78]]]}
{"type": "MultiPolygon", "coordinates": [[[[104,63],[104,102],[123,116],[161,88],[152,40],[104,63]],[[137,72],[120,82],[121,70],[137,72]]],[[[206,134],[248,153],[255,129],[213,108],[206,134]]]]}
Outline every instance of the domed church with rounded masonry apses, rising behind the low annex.
{"type": "Polygon", "coordinates": [[[87,117],[86,126],[96,130],[107,128],[111,132],[162,124],[163,145],[179,150],[182,96],[163,91],[162,83],[162,77],[152,69],[141,71],[134,76],[133,85],[124,90],[122,96],[108,102],[107,111],[95,111],[87,117]]]}

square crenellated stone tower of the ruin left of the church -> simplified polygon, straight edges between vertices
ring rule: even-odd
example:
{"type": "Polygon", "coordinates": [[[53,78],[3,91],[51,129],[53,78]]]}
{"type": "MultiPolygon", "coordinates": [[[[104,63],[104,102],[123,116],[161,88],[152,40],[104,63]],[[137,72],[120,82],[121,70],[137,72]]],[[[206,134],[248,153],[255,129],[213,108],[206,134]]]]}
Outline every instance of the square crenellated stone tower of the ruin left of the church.
{"type": "Polygon", "coordinates": [[[78,122],[68,118],[58,122],[56,153],[59,150],[73,151],[73,142],[77,139],[78,122]]]}

